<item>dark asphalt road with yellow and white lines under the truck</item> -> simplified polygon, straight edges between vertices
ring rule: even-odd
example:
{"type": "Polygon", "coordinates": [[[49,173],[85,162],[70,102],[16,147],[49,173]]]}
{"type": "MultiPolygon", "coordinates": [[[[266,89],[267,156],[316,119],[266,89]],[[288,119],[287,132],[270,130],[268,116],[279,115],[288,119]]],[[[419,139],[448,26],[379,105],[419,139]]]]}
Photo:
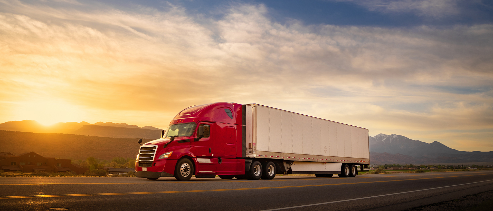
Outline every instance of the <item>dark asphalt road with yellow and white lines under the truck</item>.
{"type": "Polygon", "coordinates": [[[487,190],[493,190],[493,171],[258,181],[0,178],[0,210],[399,211],[487,190]]]}

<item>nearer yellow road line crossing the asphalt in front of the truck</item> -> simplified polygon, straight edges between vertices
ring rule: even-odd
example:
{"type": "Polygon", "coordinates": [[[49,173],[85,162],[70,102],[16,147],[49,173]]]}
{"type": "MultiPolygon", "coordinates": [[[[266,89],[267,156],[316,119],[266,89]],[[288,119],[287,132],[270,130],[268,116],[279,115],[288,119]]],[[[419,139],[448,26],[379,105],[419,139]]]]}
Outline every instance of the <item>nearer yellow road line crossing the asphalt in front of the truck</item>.
{"type": "MultiPolygon", "coordinates": [[[[480,174],[480,175],[490,175],[490,174],[480,174]]],[[[258,189],[291,188],[291,187],[316,187],[316,186],[329,186],[329,185],[341,185],[341,184],[363,184],[363,183],[390,182],[390,181],[427,180],[427,179],[467,177],[467,176],[479,176],[479,175],[461,175],[461,176],[418,178],[418,179],[406,179],[406,180],[364,181],[364,182],[348,182],[348,183],[336,183],[336,184],[310,184],[310,185],[293,185],[293,186],[277,186],[277,187],[248,187],[248,188],[211,189],[211,190],[175,190],[175,191],[156,191],[156,192],[130,192],[130,193],[83,193],[83,194],[61,194],[61,195],[3,196],[3,197],[0,197],[0,199],[45,198],[45,197],[64,197],[64,196],[133,195],[133,194],[156,194],[156,193],[193,193],[193,192],[232,191],[232,190],[258,190],[258,189]]]]}

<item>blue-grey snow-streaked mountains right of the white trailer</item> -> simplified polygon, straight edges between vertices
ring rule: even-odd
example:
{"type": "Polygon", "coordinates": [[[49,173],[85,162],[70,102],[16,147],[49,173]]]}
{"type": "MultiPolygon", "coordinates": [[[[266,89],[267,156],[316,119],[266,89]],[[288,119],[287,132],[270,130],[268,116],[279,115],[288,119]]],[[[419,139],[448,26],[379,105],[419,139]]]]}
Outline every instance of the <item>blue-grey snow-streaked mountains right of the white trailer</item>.
{"type": "Polygon", "coordinates": [[[368,138],[372,163],[493,162],[493,151],[458,151],[440,142],[428,144],[396,134],[368,138]]]}

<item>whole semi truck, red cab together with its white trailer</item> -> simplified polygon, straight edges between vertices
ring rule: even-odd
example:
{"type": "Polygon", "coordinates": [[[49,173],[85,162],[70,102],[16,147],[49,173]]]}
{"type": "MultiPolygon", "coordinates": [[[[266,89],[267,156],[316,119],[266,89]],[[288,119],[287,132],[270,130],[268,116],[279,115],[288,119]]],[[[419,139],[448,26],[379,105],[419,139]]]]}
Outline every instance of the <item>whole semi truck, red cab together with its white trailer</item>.
{"type": "Polygon", "coordinates": [[[149,180],[354,177],[370,163],[368,129],[259,104],[217,102],[178,113],[161,139],[141,144],[137,160],[136,176],[149,180]]]}

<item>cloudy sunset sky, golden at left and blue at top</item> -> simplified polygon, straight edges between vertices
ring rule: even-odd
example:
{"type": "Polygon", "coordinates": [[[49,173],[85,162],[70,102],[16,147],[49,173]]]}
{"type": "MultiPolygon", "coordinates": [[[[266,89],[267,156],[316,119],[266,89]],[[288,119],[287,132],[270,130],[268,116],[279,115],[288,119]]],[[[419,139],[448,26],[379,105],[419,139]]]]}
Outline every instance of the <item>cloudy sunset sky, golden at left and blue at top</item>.
{"type": "Polygon", "coordinates": [[[493,151],[489,0],[0,0],[0,122],[258,103],[493,151]]]}

